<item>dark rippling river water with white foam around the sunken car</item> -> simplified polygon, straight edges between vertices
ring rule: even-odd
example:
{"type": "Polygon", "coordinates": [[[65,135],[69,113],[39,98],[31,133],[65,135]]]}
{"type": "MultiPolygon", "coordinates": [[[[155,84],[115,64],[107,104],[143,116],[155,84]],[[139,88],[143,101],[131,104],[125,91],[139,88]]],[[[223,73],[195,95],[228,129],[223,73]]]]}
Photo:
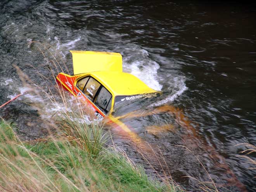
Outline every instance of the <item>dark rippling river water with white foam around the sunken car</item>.
{"type": "MultiPolygon", "coordinates": [[[[53,76],[60,69],[44,45],[69,71],[69,50],[120,52],[125,72],[163,91],[140,100],[137,117],[120,119],[161,149],[166,165],[156,170],[169,170],[176,182],[198,189],[193,179],[183,176],[209,181],[199,158],[218,185],[254,191],[256,172],[235,157],[246,149],[235,145],[256,145],[255,18],[253,3],[2,0],[0,104],[26,86],[13,64],[28,76],[29,85],[38,85],[38,92],[56,90],[53,76]],[[141,116],[143,111],[148,114],[141,116]],[[188,147],[197,158],[177,145],[188,147]]],[[[0,115],[12,117],[20,134],[33,139],[45,134],[37,119],[47,119],[61,107],[58,98],[51,102],[25,94],[0,115]],[[49,116],[38,114],[32,103],[49,116]]],[[[135,162],[143,162],[126,140],[114,141],[135,162]]]]}

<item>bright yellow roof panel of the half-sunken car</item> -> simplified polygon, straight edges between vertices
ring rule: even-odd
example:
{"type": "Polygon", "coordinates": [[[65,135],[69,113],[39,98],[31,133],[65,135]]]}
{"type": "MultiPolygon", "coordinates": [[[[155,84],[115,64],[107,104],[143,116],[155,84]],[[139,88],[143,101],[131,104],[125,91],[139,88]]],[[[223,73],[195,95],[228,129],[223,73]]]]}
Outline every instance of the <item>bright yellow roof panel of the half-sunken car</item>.
{"type": "Polygon", "coordinates": [[[95,71],[91,74],[96,80],[100,81],[115,96],[118,95],[139,95],[154,93],[156,90],[149,88],[143,81],[130,73],[119,71],[95,71]]]}

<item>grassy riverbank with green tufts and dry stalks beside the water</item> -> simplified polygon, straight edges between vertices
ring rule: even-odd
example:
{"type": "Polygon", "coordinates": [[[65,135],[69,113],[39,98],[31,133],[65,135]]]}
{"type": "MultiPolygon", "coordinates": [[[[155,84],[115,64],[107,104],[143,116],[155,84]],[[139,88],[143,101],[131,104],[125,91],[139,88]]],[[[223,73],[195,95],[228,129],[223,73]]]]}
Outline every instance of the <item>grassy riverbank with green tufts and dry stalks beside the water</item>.
{"type": "Polygon", "coordinates": [[[67,119],[56,125],[58,134],[21,142],[15,125],[0,120],[1,191],[182,191],[149,179],[125,153],[106,147],[102,127],[67,119]]]}

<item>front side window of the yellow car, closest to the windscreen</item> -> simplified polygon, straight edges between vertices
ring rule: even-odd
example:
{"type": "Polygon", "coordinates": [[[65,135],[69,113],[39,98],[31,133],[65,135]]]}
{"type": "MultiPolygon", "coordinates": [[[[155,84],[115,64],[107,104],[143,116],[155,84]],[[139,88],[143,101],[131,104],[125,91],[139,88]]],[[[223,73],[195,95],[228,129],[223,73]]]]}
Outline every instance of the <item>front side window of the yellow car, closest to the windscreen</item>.
{"type": "Polygon", "coordinates": [[[109,91],[104,86],[102,86],[95,100],[95,105],[100,107],[104,112],[108,112],[111,107],[111,102],[111,93],[109,93],[109,91]]]}

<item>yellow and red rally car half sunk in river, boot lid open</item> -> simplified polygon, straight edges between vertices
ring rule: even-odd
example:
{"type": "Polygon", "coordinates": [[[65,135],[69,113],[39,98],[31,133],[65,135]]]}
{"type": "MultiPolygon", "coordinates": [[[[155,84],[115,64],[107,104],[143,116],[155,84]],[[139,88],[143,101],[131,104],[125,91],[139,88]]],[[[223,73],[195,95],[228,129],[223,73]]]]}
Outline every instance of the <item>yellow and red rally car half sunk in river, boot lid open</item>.
{"type": "Polygon", "coordinates": [[[99,119],[111,114],[119,102],[157,93],[136,76],[123,72],[119,53],[70,52],[74,75],[59,73],[56,80],[74,96],[84,97],[99,119]]]}

